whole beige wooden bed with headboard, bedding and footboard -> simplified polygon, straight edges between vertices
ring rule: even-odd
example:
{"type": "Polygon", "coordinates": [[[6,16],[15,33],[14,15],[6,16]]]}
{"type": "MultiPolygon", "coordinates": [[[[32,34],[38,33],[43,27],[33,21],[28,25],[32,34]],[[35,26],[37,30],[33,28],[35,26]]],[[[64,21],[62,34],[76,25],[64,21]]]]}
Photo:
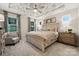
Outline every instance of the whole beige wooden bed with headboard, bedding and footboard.
{"type": "Polygon", "coordinates": [[[57,41],[58,23],[44,23],[42,31],[32,31],[26,34],[27,42],[45,52],[46,47],[57,41]]]}

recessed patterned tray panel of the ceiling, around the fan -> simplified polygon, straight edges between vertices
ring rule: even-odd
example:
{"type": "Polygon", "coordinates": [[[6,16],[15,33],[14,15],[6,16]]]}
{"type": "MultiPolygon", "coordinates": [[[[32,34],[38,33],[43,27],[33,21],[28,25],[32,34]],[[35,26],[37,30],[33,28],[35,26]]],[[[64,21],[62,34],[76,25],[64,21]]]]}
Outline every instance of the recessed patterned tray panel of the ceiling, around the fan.
{"type": "Polygon", "coordinates": [[[62,3],[9,3],[8,8],[18,10],[22,14],[38,17],[63,6],[62,3]],[[35,5],[39,10],[37,12],[34,12],[35,5]]]}

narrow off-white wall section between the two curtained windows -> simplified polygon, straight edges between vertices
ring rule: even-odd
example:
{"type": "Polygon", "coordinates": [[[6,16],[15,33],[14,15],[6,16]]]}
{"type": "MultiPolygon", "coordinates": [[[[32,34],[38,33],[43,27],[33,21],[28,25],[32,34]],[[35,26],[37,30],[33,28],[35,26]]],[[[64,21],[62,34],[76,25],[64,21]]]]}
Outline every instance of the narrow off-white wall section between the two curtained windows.
{"type": "Polygon", "coordinates": [[[27,16],[21,15],[21,38],[25,39],[26,33],[28,32],[28,20],[27,16]]]}

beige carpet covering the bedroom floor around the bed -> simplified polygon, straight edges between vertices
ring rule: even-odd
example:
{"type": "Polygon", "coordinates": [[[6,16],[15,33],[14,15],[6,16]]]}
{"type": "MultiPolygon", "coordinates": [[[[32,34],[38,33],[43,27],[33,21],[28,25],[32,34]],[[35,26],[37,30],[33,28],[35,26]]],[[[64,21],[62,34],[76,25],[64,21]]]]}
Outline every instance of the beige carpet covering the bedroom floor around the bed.
{"type": "Polygon", "coordinates": [[[43,53],[25,39],[14,46],[6,46],[3,56],[77,56],[79,48],[55,42],[43,53]]]}

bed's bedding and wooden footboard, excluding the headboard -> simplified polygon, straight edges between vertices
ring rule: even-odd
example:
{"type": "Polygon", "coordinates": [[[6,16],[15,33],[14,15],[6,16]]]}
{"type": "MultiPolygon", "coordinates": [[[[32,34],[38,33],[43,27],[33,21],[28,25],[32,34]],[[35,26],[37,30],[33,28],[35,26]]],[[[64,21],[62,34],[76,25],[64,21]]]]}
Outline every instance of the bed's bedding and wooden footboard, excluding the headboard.
{"type": "Polygon", "coordinates": [[[53,31],[37,31],[28,32],[26,34],[27,41],[41,49],[43,52],[45,48],[54,43],[58,38],[58,32],[53,31]]]}

